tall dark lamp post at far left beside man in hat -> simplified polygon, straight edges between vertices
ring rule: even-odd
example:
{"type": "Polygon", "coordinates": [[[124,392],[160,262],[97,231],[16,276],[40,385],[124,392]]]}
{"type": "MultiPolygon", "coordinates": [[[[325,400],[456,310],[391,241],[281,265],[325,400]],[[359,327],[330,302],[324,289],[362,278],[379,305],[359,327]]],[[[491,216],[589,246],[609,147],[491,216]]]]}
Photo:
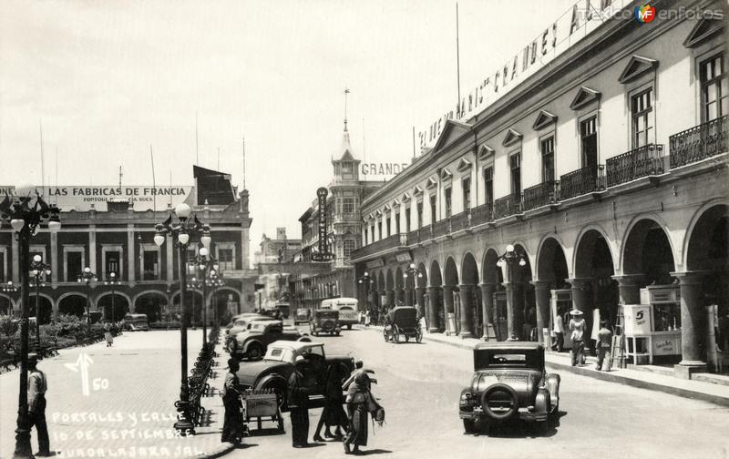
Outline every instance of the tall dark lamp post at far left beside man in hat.
{"type": "Polygon", "coordinates": [[[14,458],[33,457],[30,449],[31,420],[28,416],[28,301],[30,276],[30,240],[47,220],[48,230],[52,233],[61,229],[58,219],[60,209],[54,204],[46,204],[33,187],[18,187],[16,196],[9,195],[0,202],[0,219],[10,221],[15,231],[15,239],[20,245],[21,275],[21,316],[20,316],[20,390],[17,397],[17,422],[15,428],[14,458]]]}

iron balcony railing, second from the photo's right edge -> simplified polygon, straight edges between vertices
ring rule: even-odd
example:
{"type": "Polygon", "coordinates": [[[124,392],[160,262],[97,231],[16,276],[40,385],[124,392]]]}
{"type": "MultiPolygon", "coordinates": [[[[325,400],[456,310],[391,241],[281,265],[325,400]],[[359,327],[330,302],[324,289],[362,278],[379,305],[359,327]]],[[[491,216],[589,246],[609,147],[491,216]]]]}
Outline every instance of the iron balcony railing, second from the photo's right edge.
{"type": "Polygon", "coordinates": [[[662,145],[644,145],[605,161],[608,188],[662,174],[665,169],[662,145]]]}

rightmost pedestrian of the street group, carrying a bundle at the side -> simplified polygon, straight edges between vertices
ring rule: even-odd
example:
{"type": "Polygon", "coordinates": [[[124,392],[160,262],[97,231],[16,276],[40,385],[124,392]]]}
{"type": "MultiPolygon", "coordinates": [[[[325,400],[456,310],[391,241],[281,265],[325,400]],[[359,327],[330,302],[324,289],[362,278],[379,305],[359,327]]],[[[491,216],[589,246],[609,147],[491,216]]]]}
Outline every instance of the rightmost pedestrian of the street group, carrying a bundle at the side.
{"type": "Polygon", "coordinates": [[[359,454],[359,447],[367,445],[367,414],[373,413],[375,421],[382,425],[385,410],[370,392],[371,380],[363,370],[354,373],[344,382],[347,391],[347,411],[349,412],[349,432],[344,436],[344,453],[359,454]]]}

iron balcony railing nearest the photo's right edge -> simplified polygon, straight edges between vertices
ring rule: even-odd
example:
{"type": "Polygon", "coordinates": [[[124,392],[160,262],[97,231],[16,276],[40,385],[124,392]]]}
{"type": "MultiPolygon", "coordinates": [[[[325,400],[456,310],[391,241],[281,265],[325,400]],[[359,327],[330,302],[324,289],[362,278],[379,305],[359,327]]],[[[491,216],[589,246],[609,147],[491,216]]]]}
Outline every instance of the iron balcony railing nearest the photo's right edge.
{"type": "Polygon", "coordinates": [[[712,119],[669,138],[671,168],[680,168],[726,151],[729,116],[712,119]]]}

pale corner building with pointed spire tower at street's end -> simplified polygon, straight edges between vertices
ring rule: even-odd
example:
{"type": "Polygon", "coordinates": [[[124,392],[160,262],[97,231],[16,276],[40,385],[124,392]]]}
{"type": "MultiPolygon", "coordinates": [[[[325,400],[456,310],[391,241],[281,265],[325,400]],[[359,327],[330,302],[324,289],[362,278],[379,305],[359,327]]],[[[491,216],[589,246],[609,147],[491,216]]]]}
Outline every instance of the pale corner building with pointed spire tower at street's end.
{"type": "Polygon", "coordinates": [[[354,158],[349,139],[349,131],[344,124],[342,146],[337,157],[332,160],[334,177],[327,187],[326,197],[326,238],[330,260],[319,260],[319,239],[321,232],[320,209],[318,200],[306,209],[299,218],[302,224],[302,250],[295,260],[312,265],[323,264],[327,270],[313,268],[300,270],[288,278],[292,301],[297,307],[315,308],[326,298],[354,297],[354,270],[350,264],[352,252],[362,242],[362,201],[382,182],[360,180],[360,160],[354,158]],[[341,155],[341,156],[340,156],[341,155]]]}

